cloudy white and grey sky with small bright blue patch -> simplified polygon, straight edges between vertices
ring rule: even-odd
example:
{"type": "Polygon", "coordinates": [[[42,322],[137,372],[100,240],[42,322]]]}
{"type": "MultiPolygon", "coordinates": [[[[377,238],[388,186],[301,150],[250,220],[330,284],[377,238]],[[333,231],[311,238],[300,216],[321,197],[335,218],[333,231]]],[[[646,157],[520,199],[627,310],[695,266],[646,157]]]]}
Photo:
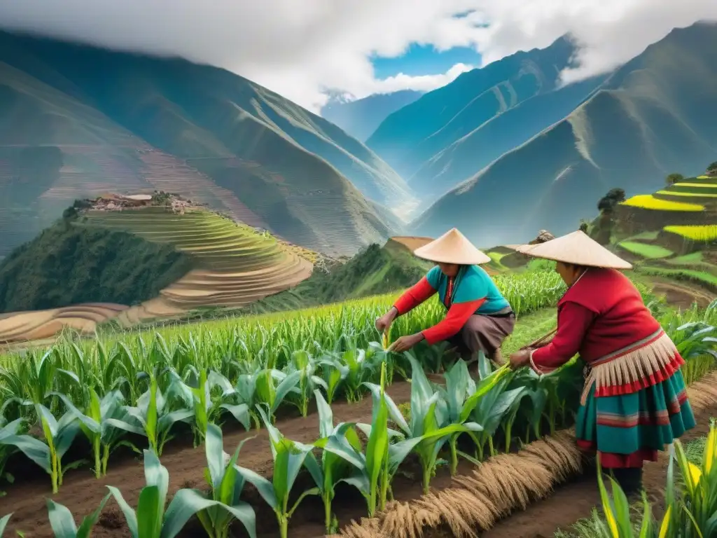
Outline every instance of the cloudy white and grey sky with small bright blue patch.
{"type": "Polygon", "coordinates": [[[717,0],[0,0],[1,27],[211,63],[315,111],[328,91],[430,90],[566,32],[579,80],[699,19],[717,0]]]}

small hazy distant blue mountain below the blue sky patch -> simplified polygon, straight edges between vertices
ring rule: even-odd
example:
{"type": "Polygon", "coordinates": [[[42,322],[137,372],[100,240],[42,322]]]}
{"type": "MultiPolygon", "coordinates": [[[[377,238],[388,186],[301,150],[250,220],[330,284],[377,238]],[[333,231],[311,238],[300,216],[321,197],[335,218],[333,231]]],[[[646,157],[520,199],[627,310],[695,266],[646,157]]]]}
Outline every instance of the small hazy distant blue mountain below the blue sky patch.
{"type": "Polygon", "coordinates": [[[389,114],[410,105],[423,94],[417,90],[401,90],[376,93],[354,101],[332,100],[321,108],[321,115],[354,138],[366,141],[389,114]]]}

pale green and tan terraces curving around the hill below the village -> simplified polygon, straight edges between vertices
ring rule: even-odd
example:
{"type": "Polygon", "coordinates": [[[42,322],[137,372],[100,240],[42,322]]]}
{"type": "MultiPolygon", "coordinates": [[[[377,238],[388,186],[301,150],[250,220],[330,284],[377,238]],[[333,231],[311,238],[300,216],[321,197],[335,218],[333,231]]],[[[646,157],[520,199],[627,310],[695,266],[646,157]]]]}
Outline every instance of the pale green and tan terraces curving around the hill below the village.
{"type": "MultiPolygon", "coordinates": [[[[164,245],[191,260],[191,267],[156,296],[146,296],[133,306],[81,303],[5,315],[0,318],[0,341],[46,338],[65,326],[92,331],[96,324],[110,318],[123,326],[133,326],[154,318],[181,316],[199,307],[247,306],[293,288],[309,278],[313,270],[311,253],[201,207],[190,207],[184,214],[166,207],[92,210],[65,225],[95,234],[104,230],[108,237],[130,235],[149,244],[164,245]]],[[[92,243],[87,245],[90,251],[93,247],[92,243]]],[[[11,258],[19,258],[16,261],[21,263],[21,255],[22,252],[11,258]]],[[[125,261],[138,263],[133,255],[136,252],[125,253],[125,261]]],[[[41,259],[37,263],[47,266],[48,262],[41,259]]],[[[103,275],[85,278],[101,280],[103,275]]],[[[125,284],[131,286],[133,282],[125,284]]],[[[65,282],[54,285],[61,288],[65,282]]]]}

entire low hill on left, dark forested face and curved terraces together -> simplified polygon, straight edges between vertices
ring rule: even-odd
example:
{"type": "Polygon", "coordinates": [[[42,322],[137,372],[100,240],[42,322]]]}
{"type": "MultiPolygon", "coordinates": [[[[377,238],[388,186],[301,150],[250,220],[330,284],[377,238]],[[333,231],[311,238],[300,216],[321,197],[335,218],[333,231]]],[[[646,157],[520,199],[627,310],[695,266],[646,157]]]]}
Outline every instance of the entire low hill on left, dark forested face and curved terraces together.
{"type": "Polygon", "coordinates": [[[89,206],[0,263],[0,342],[242,308],[309,278],[318,258],[204,207],[89,206]]]}

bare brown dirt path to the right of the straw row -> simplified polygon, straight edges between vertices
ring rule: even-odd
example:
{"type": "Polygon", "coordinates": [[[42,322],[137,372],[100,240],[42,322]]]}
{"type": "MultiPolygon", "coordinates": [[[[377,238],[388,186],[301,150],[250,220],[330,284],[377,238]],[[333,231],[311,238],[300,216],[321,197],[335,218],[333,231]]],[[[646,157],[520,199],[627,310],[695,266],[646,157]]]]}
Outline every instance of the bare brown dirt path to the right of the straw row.
{"type": "MultiPolygon", "coordinates": [[[[685,443],[705,435],[710,426],[710,417],[717,416],[717,402],[699,412],[695,418],[697,426],[680,440],[685,443]]],[[[653,501],[653,510],[662,511],[665,480],[667,478],[668,453],[660,453],[655,463],[647,463],[643,483],[653,501]]],[[[481,534],[481,538],[552,538],[558,529],[568,529],[578,519],[589,517],[594,506],[599,506],[599,491],[595,471],[576,478],[574,482],[561,486],[548,499],[538,501],[525,511],[504,519],[493,529],[481,534]]]]}

